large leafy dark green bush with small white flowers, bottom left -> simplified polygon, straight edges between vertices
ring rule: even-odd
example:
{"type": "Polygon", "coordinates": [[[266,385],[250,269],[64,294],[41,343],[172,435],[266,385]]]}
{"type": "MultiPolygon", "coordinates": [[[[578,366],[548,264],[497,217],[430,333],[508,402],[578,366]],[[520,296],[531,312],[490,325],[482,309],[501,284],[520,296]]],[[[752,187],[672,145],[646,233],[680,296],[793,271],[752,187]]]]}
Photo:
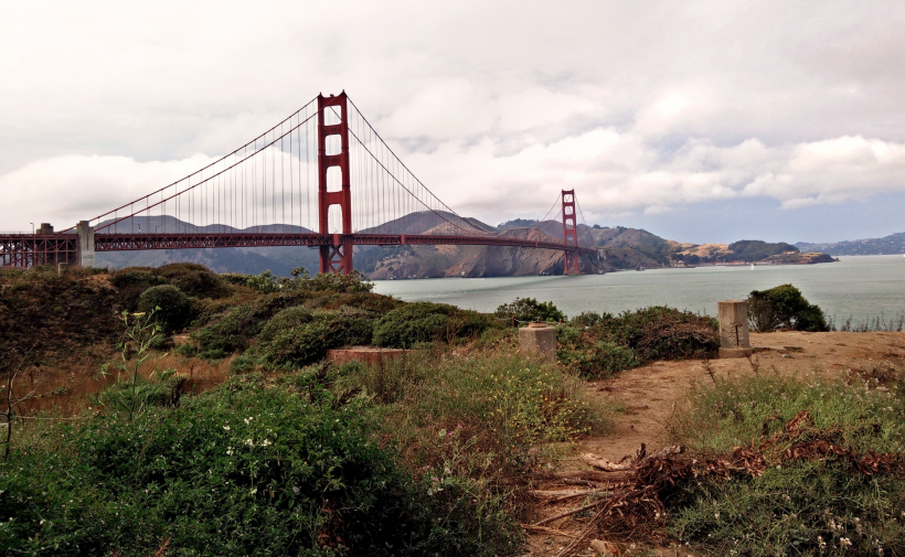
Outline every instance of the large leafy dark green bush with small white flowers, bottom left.
{"type": "Polygon", "coordinates": [[[53,555],[513,553],[467,496],[426,495],[373,441],[360,401],[241,376],[130,424],[93,418],[0,463],[0,546],[53,555]],[[494,543],[496,542],[496,543],[494,543]],[[162,549],[158,551],[163,553],[162,549]]]}

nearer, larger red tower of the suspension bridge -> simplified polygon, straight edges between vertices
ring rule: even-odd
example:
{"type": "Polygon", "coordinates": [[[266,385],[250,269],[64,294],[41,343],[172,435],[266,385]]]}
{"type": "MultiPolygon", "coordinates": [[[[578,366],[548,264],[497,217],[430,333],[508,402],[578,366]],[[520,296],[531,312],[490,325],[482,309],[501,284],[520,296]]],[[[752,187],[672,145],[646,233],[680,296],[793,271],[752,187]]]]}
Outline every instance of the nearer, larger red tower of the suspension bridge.
{"type": "Polygon", "coordinates": [[[318,95],[318,232],[330,234],[329,211],[339,205],[342,212],[342,234],[333,234],[329,246],[320,246],[320,272],[352,272],[352,190],[349,183],[349,114],[345,92],[339,96],[318,95]],[[339,107],[340,122],[327,125],[324,109],[339,107]],[[340,137],[340,152],[327,154],[327,138],[340,137]],[[327,191],[327,170],[339,167],[339,191],[327,191]]]}

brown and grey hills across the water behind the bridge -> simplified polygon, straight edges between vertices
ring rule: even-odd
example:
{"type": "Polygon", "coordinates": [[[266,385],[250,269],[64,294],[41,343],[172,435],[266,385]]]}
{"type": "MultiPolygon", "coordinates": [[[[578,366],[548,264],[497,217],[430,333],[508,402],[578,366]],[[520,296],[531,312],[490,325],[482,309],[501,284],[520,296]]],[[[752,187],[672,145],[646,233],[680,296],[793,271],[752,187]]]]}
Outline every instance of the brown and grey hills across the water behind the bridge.
{"type": "MultiPolygon", "coordinates": [[[[173,217],[139,218],[118,223],[118,232],[296,232],[308,228],[291,225],[248,227],[242,231],[223,225],[195,226],[173,217]]],[[[518,218],[497,227],[453,213],[420,212],[361,231],[374,234],[462,234],[479,228],[502,236],[561,242],[563,224],[558,221],[518,218]]],[[[800,254],[790,244],[741,240],[735,244],[683,244],[656,234],[625,226],[578,225],[582,246],[595,247],[598,257],[582,257],[583,272],[610,272],[619,269],[675,267],[706,263],[771,260],[784,264],[832,260],[824,254],[800,254]]],[[[202,264],[217,272],[259,274],[265,269],[287,276],[295,267],[318,269],[318,250],[306,247],[217,248],[181,250],[139,250],[97,254],[99,266],[158,267],[168,263],[202,264]]],[[[373,279],[428,277],[502,277],[562,275],[563,255],[558,250],[500,246],[356,246],[355,268],[373,279]]]]}

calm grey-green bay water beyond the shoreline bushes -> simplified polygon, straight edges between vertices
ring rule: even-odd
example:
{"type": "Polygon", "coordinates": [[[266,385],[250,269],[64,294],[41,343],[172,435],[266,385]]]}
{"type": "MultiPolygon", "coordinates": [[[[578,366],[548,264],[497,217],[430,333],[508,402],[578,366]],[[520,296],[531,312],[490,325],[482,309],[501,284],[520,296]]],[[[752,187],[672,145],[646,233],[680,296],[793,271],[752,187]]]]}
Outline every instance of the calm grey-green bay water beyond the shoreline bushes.
{"type": "Polygon", "coordinates": [[[716,314],[716,302],[791,282],[808,301],[837,321],[855,322],[905,313],[905,257],[841,257],[820,265],[651,269],[581,277],[380,280],[375,291],[407,301],[428,300],[493,311],[515,297],[553,301],[568,315],[617,313],[645,306],[672,306],[716,314]]]}

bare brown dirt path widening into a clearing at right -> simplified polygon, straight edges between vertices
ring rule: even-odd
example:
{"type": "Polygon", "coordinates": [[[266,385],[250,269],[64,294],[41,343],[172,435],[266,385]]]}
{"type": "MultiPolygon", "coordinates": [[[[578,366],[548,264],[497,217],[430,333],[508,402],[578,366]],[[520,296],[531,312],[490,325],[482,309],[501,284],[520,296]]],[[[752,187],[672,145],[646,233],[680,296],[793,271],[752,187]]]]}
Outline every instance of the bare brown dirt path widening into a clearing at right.
{"type": "MultiPolygon", "coordinates": [[[[752,333],[752,346],[758,352],[748,358],[711,360],[710,368],[717,377],[733,377],[752,374],[755,367],[780,374],[817,374],[827,377],[845,376],[849,371],[869,371],[882,366],[884,361],[905,358],[905,333],[752,333]]],[[[654,362],[645,367],[622,372],[599,382],[587,383],[588,394],[608,407],[616,406],[622,411],[616,414],[614,428],[605,437],[589,438],[574,447],[569,454],[557,464],[557,471],[590,470],[581,456],[594,453],[603,459],[619,461],[622,457],[635,456],[641,443],[648,451],[657,451],[669,444],[666,424],[677,405],[681,405],[689,388],[696,382],[711,382],[702,361],[654,362]]],[[[581,506],[586,500],[572,499],[561,503],[544,502],[544,497],[555,499],[586,488],[574,484],[551,482],[540,485],[542,510],[540,519],[555,516],[581,506]],[[562,495],[558,495],[562,496],[562,495]]],[[[579,515],[581,516],[581,515],[579,515]]],[[[565,547],[571,538],[582,529],[582,521],[571,517],[544,524],[550,532],[531,532],[528,555],[554,556],[565,547]]],[[[605,537],[605,536],[598,536],[605,537]]],[[[586,544],[583,544],[586,547],[586,544]]],[[[618,545],[614,554],[685,556],[688,550],[677,547],[641,548],[618,545]]],[[[590,548],[582,548],[575,555],[594,555],[590,548]]]]}

